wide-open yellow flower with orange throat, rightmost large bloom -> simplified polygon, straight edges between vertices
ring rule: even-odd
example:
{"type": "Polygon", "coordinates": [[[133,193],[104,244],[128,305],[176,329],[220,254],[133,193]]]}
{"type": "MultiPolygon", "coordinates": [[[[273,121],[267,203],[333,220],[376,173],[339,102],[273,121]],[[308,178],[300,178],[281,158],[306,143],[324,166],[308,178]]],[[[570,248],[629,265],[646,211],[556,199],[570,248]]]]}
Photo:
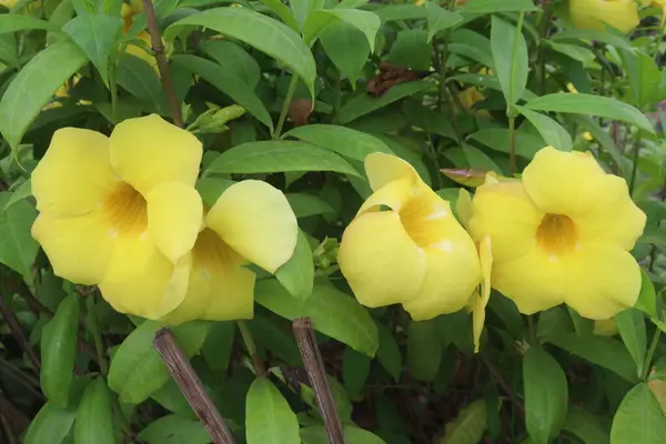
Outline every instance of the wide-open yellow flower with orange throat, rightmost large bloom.
{"type": "Polygon", "coordinates": [[[488,178],[470,228],[492,241],[492,284],[532,314],[566,303],[605,320],[634,305],[640,270],[629,254],[645,214],[626,182],[591,153],[541,150],[522,181],[488,178]]]}

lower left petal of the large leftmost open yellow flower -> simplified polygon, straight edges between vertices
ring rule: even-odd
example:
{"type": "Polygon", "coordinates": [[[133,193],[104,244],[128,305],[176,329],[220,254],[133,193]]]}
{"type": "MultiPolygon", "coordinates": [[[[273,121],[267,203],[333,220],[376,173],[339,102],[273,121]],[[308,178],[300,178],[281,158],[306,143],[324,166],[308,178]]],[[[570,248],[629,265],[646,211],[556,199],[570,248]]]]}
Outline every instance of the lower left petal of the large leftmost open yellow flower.
{"type": "Polygon", "coordinates": [[[41,213],[32,236],[49,258],[56,275],[83,285],[99,284],[107,273],[113,239],[101,212],[51,219],[41,213]]]}

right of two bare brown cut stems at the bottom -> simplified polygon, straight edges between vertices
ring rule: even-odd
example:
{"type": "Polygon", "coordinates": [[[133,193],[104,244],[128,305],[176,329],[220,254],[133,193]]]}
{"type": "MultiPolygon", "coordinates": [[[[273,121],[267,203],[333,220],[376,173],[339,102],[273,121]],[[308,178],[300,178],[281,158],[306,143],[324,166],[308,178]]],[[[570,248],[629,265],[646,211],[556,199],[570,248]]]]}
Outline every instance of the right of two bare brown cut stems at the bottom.
{"type": "Polygon", "coordinates": [[[331,444],[344,444],[342,422],[335,410],[333,395],[331,394],[331,389],[326,381],[324,363],[316,344],[314,330],[312,330],[312,320],[310,317],[295,319],[292,323],[292,327],[294,330],[294,336],[296,336],[299,350],[301,351],[301,357],[305,364],[310,384],[312,385],[312,390],[316,397],[320,413],[324,418],[329,440],[331,441],[331,444]]]}

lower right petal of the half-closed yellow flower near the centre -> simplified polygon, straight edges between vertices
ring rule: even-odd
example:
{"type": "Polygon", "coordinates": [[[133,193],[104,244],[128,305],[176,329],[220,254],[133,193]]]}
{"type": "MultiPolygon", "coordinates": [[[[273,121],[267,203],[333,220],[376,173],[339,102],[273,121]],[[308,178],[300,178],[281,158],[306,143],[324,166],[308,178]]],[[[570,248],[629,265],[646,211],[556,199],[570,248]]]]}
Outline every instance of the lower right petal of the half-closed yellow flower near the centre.
{"type": "Polygon", "coordinates": [[[414,321],[462,310],[481,281],[478,254],[462,226],[448,229],[441,246],[424,249],[426,272],[418,296],[403,304],[414,321]]]}

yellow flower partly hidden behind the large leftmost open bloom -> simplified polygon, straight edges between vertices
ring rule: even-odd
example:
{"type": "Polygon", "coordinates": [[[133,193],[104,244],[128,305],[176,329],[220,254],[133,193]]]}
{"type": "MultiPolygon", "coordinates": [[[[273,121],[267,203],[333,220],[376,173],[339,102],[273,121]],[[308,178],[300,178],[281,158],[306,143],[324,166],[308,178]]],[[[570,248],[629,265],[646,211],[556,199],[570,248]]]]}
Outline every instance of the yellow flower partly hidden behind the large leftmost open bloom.
{"type": "Polygon", "coordinates": [[[164,316],[171,324],[193,319],[251,319],[254,280],[250,261],[275,273],[292,256],[299,226],[286,198],[265,182],[246,180],[224,191],[205,215],[190,258],[190,285],[182,304],[164,316]]]}

